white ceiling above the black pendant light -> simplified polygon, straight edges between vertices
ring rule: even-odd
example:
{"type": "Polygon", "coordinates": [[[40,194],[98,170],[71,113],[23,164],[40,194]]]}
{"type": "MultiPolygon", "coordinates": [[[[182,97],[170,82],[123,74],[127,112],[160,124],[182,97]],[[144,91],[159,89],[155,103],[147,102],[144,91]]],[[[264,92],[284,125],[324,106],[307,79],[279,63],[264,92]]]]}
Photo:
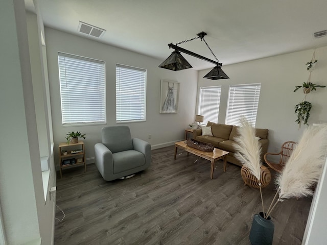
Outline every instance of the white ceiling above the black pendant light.
{"type": "MultiPolygon", "coordinates": [[[[326,0],[26,0],[28,10],[33,1],[46,27],[85,36],[83,21],[106,30],[87,38],[162,61],[173,52],[168,43],[201,31],[223,65],[327,45],[313,37],[327,29],[326,0]]],[[[215,60],[200,39],[179,46],[215,60]]],[[[214,67],[183,56],[195,69],[214,67]]]]}

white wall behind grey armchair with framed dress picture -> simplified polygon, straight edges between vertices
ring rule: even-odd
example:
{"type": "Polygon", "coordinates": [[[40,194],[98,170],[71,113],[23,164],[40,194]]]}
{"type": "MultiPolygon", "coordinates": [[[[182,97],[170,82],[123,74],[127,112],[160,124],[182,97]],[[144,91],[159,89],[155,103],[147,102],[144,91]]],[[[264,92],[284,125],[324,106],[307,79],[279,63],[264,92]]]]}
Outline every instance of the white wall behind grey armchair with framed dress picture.
{"type": "MultiPolygon", "coordinates": [[[[109,33],[107,33],[109,35],[109,33]]],[[[85,153],[88,163],[94,162],[94,145],[101,142],[101,129],[105,125],[63,127],[61,120],[60,87],[58,72],[58,51],[104,60],[106,62],[106,100],[107,125],[116,125],[115,120],[115,64],[124,64],[147,69],[147,104],[146,122],[130,123],[132,137],[147,140],[152,146],[181,140],[183,129],[188,128],[195,118],[197,71],[188,69],[170,71],[158,68],[162,60],[136,54],[121,48],[106,45],[90,39],[67,34],[51,28],[45,28],[46,51],[48,54],[48,70],[51,92],[51,108],[53,118],[54,142],[65,141],[70,131],[81,131],[86,134],[85,153]],[[175,114],[160,114],[160,79],[180,83],[179,111],[175,114]],[[151,134],[152,138],[148,139],[151,134]]],[[[167,57],[170,55],[167,48],[167,57]]],[[[56,162],[58,164],[58,160],[56,162]]]]}

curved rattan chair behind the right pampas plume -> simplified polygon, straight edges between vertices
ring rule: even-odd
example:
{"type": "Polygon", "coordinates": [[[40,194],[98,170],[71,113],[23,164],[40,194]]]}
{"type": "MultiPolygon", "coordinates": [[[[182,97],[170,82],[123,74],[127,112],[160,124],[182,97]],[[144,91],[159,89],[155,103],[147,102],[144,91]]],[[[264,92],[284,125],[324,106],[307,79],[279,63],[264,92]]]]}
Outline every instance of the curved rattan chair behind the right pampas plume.
{"type": "Polygon", "coordinates": [[[294,141],[286,141],[282,145],[281,152],[279,153],[266,153],[264,155],[265,162],[268,164],[269,167],[277,171],[278,173],[282,173],[282,170],[285,166],[285,163],[287,160],[290,158],[293,150],[295,149],[295,146],[297,145],[296,142],[294,141]],[[281,158],[279,158],[278,163],[270,162],[267,160],[267,156],[273,155],[273,156],[278,156],[281,155],[281,158]]]}

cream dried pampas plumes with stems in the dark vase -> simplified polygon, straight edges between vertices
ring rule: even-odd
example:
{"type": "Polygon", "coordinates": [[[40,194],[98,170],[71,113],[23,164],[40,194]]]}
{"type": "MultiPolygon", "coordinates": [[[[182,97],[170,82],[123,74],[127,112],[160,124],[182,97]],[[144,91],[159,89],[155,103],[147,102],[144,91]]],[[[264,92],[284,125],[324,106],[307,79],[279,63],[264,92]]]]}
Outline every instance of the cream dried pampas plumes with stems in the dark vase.
{"type": "MultiPolygon", "coordinates": [[[[261,166],[261,145],[255,137],[255,129],[243,117],[239,128],[239,137],[235,139],[236,158],[247,166],[251,173],[259,180],[261,166]]],[[[278,202],[287,198],[308,197],[313,194],[312,186],[317,183],[321,174],[321,167],[326,159],[327,125],[309,126],[298,142],[281,174],[276,179],[278,186],[275,197],[267,210],[264,211],[261,183],[260,194],[265,218],[268,218],[278,202]],[[278,199],[275,201],[275,199],[278,199]]]]}

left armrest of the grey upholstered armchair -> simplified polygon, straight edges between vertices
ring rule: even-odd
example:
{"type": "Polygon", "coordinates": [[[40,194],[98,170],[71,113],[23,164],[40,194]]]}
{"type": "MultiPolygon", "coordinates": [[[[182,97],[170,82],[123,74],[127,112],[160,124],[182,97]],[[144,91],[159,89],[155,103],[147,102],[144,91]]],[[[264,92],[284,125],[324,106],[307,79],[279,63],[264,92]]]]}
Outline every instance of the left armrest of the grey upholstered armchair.
{"type": "Polygon", "coordinates": [[[96,165],[99,169],[100,174],[105,179],[105,176],[110,175],[112,173],[112,152],[103,143],[96,143],[94,146],[94,150],[96,165]]]}

